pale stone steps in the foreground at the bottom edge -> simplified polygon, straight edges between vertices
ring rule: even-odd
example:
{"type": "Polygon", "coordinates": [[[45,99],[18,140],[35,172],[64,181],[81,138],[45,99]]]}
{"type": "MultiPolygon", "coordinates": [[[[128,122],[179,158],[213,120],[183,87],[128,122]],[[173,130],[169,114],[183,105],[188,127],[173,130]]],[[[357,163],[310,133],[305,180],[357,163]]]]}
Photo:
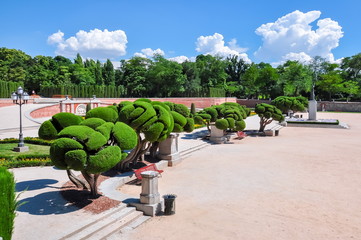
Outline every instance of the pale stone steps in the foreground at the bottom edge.
{"type": "Polygon", "coordinates": [[[83,226],[65,235],[61,240],[101,239],[127,226],[142,215],[143,213],[136,211],[134,207],[121,204],[106,214],[93,218],[91,222],[85,221],[83,226]],[[97,237],[93,238],[94,235],[97,237]]]}

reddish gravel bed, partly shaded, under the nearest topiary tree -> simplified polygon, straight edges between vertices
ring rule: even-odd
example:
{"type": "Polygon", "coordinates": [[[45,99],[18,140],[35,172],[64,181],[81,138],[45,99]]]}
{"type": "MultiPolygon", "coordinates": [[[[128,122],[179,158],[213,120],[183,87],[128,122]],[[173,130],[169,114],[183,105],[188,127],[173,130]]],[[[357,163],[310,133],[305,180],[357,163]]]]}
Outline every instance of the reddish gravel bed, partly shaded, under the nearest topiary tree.
{"type": "MultiPolygon", "coordinates": [[[[83,179],[81,175],[78,177],[83,179]]],[[[100,175],[98,178],[98,186],[108,178],[109,176],[100,175]]],[[[61,188],[61,195],[70,204],[94,214],[101,213],[119,205],[120,201],[110,199],[100,194],[102,193],[99,192],[97,197],[93,197],[90,195],[89,191],[77,188],[70,181],[66,182],[61,188]]]]}

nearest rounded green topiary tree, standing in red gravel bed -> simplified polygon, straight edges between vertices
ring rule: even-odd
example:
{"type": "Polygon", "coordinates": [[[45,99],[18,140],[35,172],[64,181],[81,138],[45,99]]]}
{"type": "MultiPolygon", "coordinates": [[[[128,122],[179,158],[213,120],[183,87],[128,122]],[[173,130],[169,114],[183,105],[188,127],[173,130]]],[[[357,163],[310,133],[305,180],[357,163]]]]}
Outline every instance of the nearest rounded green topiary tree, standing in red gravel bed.
{"type": "Polygon", "coordinates": [[[125,150],[137,144],[137,134],[128,125],[121,122],[99,125],[102,121],[90,118],[84,121],[89,125],[66,127],[50,146],[52,163],[60,169],[81,171],[93,196],[98,194],[99,175],[125,159],[128,155],[125,150]]]}

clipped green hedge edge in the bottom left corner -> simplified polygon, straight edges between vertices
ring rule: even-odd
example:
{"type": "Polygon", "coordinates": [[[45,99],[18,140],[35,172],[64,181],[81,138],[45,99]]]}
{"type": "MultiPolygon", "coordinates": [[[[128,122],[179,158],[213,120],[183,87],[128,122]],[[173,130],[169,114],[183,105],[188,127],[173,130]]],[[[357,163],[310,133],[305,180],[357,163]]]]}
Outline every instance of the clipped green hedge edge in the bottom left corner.
{"type": "Polygon", "coordinates": [[[11,240],[18,203],[14,175],[4,167],[0,167],[0,206],[0,236],[11,240]]]}

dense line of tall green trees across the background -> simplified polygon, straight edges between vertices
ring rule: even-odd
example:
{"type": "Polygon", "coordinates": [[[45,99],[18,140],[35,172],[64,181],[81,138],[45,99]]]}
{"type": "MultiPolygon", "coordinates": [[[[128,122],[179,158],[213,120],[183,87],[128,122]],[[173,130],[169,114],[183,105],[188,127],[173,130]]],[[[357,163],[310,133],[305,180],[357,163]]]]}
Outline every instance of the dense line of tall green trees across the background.
{"type": "Polygon", "coordinates": [[[317,99],[359,100],[360,71],[361,53],[340,64],[315,57],[307,65],[287,61],[277,67],[246,63],[237,56],[198,55],[195,62],[177,63],[158,55],[121,60],[115,69],[109,59],[84,61],[79,54],[73,61],[62,56],[31,57],[20,50],[0,48],[0,81],[23,83],[29,92],[44,96],[73,89],[70,95],[74,97],[91,97],[83,96],[91,92],[104,97],[204,97],[212,92],[213,96],[273,99],[309,97],[314,85],[317,99]],[[87,90],[81,86],[88,86],[84,87],[87,90]]]}

